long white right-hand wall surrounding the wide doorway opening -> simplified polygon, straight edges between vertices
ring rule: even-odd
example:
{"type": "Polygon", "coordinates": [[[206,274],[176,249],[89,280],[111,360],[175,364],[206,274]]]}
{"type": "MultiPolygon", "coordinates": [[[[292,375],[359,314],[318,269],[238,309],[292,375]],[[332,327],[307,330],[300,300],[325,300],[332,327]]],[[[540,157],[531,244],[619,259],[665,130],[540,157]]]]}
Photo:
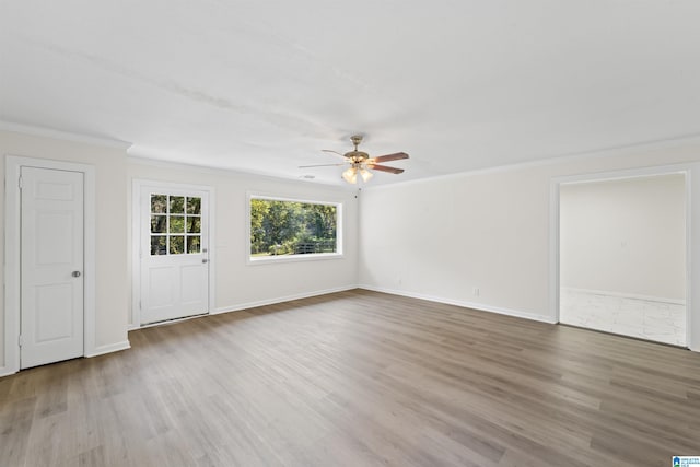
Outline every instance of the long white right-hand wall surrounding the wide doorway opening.
{"type": "Polygon", "coordinates": [[[368,187],[360,200],[360,284],[553,323],[552,179],[699,160],[700,144],[686,144],[368,187]]]}

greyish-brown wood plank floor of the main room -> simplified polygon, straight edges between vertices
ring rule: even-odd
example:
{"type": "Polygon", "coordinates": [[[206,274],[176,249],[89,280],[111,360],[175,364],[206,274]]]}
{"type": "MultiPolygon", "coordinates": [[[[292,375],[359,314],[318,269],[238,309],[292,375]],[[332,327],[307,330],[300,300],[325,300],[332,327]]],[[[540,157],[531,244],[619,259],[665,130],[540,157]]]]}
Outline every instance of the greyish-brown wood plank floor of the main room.
{"type": "Polygon", "coordinates": [[[369,291],[0,378],[0,466],[660,466],[700,354],[369,291]]]}

